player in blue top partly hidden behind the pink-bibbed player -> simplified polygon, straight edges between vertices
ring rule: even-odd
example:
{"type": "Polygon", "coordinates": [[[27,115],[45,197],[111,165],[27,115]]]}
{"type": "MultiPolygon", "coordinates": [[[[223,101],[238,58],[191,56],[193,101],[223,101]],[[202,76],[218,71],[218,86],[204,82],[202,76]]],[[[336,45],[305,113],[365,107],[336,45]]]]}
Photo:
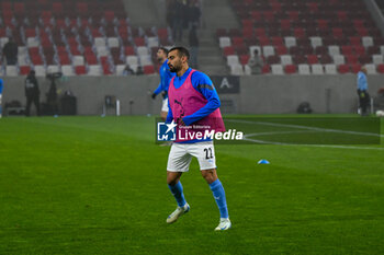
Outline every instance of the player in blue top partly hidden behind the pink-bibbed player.
{"type": "Polygon", "coordinates": [[[167,118],[168,115],[168,86],[170,80],[174,77],[174,73],[169,71],[168,67],[168,49],[165,47],[160,47],[157,50],[157,59],[161,63],[159,73],[160,73],[160,83],[159,86],[154,91],[153,98],[162,92],[162,107],[161,107],[161,113],[160,116],[162,119],[167,118]]]}

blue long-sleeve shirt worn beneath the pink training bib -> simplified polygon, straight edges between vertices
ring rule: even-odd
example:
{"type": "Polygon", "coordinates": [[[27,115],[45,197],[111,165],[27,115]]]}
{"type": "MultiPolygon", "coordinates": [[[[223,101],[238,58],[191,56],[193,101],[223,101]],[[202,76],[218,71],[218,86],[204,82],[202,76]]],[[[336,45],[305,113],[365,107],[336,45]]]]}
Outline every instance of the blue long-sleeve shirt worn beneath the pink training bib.
{"type": "MultiPolygon", "coordinates": [[[[191,71],[192,69],[189,68],[182,77],[178,77],[178,76],[174,77],[173,85],[176,89],[179,89],[184,83],[185,79],[188,78],[191,71]]],[[[203,72],[195,71],[191,76],[191,82],[192,82],[192,86],[207,100],[207,103],[202,108],[197,109],[195,113],[189,116],[184,116],[182,118],[182,120],[187,126],[190,126],[193,123],[208,116],[221,106],[221,100],[218,98],[217,92],[213,85],[213,82],[208,78],[208,76],[206,76],[203,72]]],[[[168,102],[168,106],[169,106],[169,102],[168,102]]],[[[173,119],[172,109],[171,107],[169,107],[167,123],[172,121],[172,119],[173,119]]]]}

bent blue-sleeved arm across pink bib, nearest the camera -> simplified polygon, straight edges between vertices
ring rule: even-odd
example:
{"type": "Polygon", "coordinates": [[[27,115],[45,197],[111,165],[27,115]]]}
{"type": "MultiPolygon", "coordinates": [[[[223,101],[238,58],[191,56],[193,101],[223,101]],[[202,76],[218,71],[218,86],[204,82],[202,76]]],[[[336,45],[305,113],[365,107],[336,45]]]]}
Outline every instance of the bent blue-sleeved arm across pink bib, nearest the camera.
{"type": "Polygon", "coordinates": [[[193,114],[182,118],[187,126],[208,116],[221,106],[221,100],[218,98],[217,92],[211,79],[206,74],[202,72],[193,73],[192,85],[195,90],[203,94],[203,96],[207,100],[207,103],[193,114]]]}

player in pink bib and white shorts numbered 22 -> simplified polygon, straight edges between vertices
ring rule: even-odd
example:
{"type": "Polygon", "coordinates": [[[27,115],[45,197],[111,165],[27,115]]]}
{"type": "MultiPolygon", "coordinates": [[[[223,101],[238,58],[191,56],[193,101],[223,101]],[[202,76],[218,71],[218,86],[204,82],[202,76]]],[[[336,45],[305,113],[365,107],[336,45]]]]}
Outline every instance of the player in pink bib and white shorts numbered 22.
{"type": "MultiPolygon", "coordinates": [[[[216,130],[224,131],[225,128],[218,108],[221,101],[217,92],[205,73],[189,67],[189,58],[190,54],[184,47],[173,47],[168,53],[169,69],[171,72],[176,72],[177,76],[172,78],[169,84],[167,123],[173,120],[180,126],[190,126],[203,121],[213,126],[216,125],[216,130]],[[221,121],[215,121],[217,119],[221,121]]],[[[173,223],[190,210],[190,206],[184,198],[180,177],[182,173],[189,171],[192,157],[197,159],[201,174],[210,185],[221,213],[219,224],[215,231],[228,230],[231,223],[225,192],[216,173],[213,141],[208,139],[180,141],[177,138],[171,147],[167,165],[167,183],[178,207],[168,217],[167,223],[173,223]]]]}

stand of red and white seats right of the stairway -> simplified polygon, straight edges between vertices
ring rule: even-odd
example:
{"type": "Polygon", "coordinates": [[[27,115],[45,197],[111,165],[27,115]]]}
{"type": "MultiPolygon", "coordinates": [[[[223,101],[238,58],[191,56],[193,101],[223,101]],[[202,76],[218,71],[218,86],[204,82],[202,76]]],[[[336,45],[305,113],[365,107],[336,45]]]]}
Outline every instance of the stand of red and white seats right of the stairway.
{"type": "Polygon", "coordinates": [[[362,65],[383,73],[384,37],[363,0],[231,0],[231,7],[241,30],[218,28],[216,36],[233,74],[250,73],[255,48],[263,73],[355,73],[362,65]]]}

